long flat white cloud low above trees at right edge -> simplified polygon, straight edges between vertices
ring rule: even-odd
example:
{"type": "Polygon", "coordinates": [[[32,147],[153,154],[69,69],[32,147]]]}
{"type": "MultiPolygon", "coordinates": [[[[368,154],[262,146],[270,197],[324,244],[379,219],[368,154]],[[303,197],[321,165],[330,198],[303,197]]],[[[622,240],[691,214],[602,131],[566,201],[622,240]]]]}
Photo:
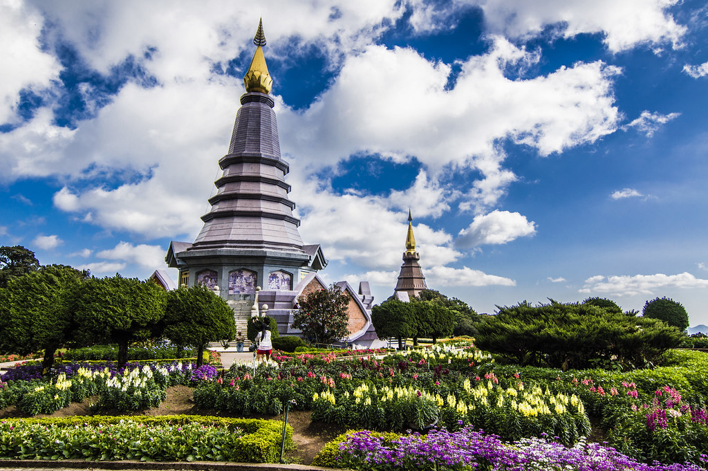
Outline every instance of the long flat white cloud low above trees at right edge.
{"type": "Polygon", "coordinates": [[[588,278],[581,293],[610,293],[615,296],[653,295],[666,288],[708,288],[708,280],[684,272],[678,275],[602,276],[588,278]]]}

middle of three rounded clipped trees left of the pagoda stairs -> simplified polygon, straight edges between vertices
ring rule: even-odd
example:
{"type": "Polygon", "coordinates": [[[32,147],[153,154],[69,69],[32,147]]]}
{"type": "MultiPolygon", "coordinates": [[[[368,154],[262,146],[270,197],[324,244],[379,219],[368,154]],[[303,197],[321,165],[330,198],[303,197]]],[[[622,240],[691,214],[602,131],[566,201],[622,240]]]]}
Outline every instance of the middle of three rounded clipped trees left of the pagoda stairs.
{"type": "Polygon", "coordinates": [[[137,278],[89,278],[67,296],[81,344],[118,344],[118,365],[127,363],[131,342],[149,339],[164,317],[165,291],[137,278]]]}

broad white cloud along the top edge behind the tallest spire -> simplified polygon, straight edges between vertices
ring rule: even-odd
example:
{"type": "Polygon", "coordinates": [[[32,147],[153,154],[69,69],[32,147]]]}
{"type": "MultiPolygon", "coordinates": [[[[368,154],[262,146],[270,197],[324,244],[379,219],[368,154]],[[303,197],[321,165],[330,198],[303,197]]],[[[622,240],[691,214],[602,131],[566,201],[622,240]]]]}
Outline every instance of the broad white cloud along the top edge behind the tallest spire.
{"type": "Polygon", "coordinates": [[[292,58],[298,47],[314,45],[336,60],[377,38],[404,13],[395,0],[274,0],[261,2],[258,8],[223,1],[171,3],[166,8],[162,3],[125,0],[42,2],[41,7],[58,34],[99,72],[132,56],[164,84],[176,77],[205,81],[214,64],[227,67],[244,49],[251,50],[259,16],[267,54],[292,58]]]}

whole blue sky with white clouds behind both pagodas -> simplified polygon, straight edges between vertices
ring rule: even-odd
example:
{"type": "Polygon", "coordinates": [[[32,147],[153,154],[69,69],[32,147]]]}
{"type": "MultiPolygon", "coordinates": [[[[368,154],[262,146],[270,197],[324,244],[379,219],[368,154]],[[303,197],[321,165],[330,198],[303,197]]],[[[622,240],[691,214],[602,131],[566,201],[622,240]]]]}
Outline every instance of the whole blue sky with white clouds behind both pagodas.
{"type": "Polygon", "coordinates": [[[708,324],[697,0],[0,1],[0,244],[164,268],[209,209],[261,16],[326,280],[391,295],[411,208],[428,287],[478,312],[668,296],[708,324]]]}

